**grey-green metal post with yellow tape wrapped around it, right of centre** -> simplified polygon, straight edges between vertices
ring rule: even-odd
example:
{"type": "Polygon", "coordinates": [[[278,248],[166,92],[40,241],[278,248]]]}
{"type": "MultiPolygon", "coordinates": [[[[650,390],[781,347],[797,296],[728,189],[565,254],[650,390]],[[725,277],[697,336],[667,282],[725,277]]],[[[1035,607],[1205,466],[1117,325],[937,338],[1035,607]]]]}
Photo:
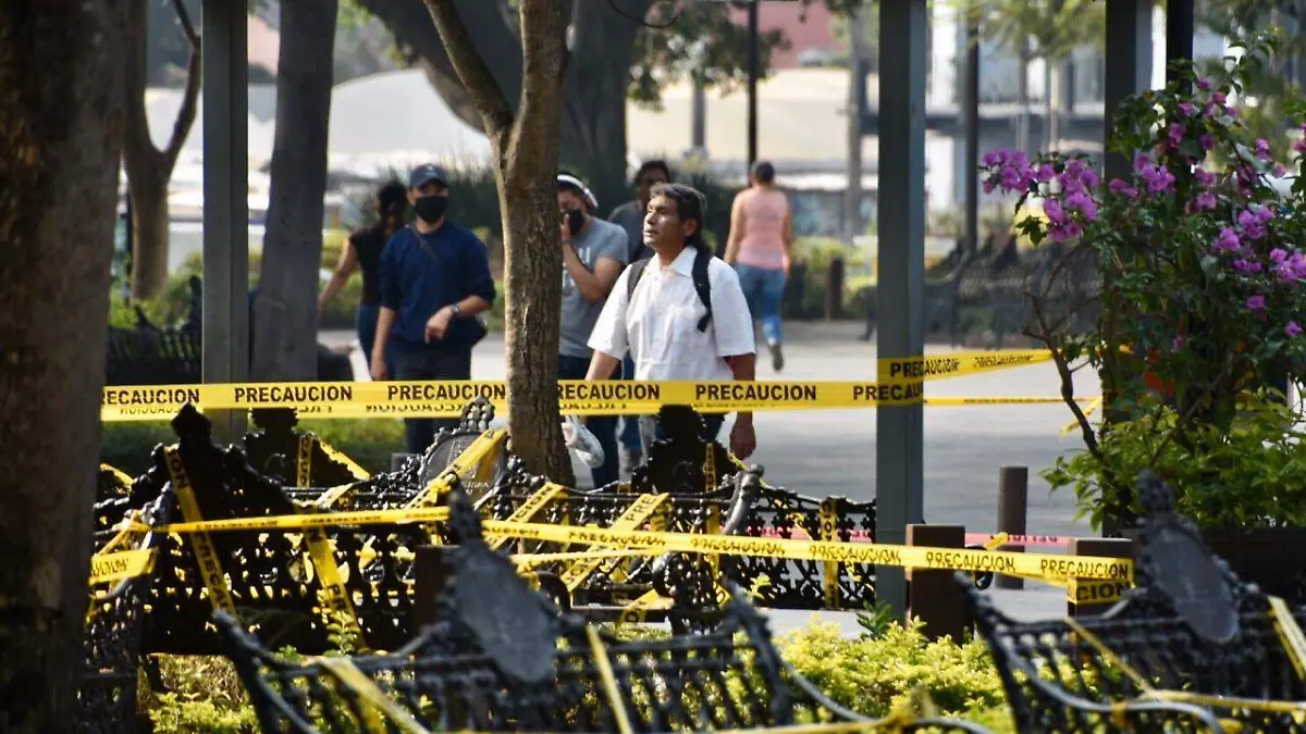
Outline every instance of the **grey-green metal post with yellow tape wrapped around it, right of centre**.
{"type": "MultiPolygon", "coordinates": [[[[879,128],[879,357],[921,358],[925,290],[925,69],[929,0],[880,4],[879,128]],[[888,214],[891,213],[891,214],[888,214]]],[[[882,379],[888,375],[880,375],[882,379]]],[[[921,404],[875,411],[876,538],[906,542],[923,522],[923,410],[921,404]]],[[[906,613],[901,568],[875,569],[875,596],[906,613]]]]}

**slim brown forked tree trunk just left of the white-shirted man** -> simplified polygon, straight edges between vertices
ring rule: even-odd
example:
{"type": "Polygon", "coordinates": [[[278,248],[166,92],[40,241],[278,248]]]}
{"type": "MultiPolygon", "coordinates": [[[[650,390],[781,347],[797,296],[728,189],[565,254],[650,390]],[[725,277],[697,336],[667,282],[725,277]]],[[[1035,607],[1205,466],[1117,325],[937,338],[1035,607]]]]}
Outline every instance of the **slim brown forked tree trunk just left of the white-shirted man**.
{"type": "Polygon", "coordinates": [[[558,426],[558,154],[567,69],[565,4],[521,0],[522,85],[516,111],[460,16],[426,0],[458,78],[481,112],[495,159],[504,234],[504,350],[512,449],[532,471],[573,483],[558,426]]]}

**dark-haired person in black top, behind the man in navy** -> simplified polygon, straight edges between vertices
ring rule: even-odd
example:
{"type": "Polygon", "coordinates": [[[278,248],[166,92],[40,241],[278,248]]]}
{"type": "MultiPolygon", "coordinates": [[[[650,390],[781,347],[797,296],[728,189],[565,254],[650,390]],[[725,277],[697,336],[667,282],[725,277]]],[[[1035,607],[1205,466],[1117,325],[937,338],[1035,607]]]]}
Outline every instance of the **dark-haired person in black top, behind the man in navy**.
{"type": "MultiPolygon", "coordinates": [[[[363,350],[367,368],[372,368],[372,346],[376,341],[376,317],[381,311],[381,251],[396,230],[404,226],[407,214],[407,189],[400,182],[389,182],[376,191],[376,214],[379,219],[354,231],[345,240],[340,263],[330,281],[323,289],[317,300],[317,319],[323,316],[326,303],[340,294],[355,270],[363,272],[363,296],[358,300],[354,315],[354,330],[358,332],[358,345],[363,350]]],[[[394,374],[393,355],[387,351],[385,370],[394,374]]]]}

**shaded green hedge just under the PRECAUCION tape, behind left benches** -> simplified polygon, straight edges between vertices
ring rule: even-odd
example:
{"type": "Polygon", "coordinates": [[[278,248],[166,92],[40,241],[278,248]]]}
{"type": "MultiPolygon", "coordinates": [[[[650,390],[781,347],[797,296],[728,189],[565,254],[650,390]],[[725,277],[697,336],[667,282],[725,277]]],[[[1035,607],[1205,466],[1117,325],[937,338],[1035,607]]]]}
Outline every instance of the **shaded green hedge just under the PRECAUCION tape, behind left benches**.
{"type": "MultiPolygon", "coordinates": [[[[374,474],[389,471],[390,453],[404,451],[404,422],[397,418],[304,421],[300,427],[316,432],[374,474]]],[[[175,440],[166,422],[104,423],[99,460],[136,477],[149,469],[155,445],[175,440]]]]}

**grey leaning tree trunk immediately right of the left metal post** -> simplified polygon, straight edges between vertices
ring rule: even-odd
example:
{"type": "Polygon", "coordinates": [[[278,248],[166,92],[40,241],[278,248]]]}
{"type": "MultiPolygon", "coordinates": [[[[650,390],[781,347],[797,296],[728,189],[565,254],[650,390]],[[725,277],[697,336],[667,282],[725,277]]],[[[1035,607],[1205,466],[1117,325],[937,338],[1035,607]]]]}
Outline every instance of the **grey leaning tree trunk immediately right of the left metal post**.
{"type": "Polygon", "coordinates": [[[337,8],[337,0],[281,0],[268,230],[251,323],[255,380],[317,379],[317,272],[337,8]]]}

